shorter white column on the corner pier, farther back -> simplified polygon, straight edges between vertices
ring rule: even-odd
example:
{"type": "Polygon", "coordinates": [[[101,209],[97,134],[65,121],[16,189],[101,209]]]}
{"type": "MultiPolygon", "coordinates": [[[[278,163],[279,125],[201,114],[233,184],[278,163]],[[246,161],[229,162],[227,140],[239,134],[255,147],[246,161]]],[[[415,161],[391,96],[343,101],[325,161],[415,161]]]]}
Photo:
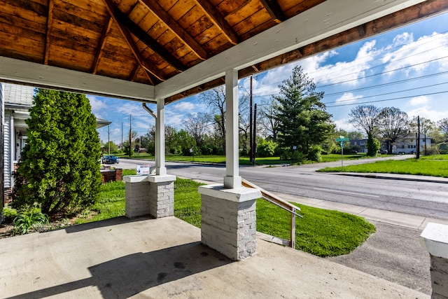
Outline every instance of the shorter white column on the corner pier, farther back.
{"type": "Polygon", "coordinates": [[[157,118],[155,119],[155,174],[165,176],[165,99],[157,101],[157,118]]]}

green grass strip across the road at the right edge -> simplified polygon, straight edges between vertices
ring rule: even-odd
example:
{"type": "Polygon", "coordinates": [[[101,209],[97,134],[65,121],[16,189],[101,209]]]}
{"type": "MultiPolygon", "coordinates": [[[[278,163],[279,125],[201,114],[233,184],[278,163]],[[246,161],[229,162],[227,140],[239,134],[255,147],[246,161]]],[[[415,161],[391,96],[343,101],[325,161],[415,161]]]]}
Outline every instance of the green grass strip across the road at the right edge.
{"type": "MultiPolygon", "coordinates": [[[[326,167],[320,172],[340,172],[341,167],[326,167]]],[[[419,160],[386,160],[363,165],[346,165],[344,172],[414,174],[448,177],[448,155],[427,156],[419,160]],[[431,158],[432,157],[432,158],[431,158]]]]}

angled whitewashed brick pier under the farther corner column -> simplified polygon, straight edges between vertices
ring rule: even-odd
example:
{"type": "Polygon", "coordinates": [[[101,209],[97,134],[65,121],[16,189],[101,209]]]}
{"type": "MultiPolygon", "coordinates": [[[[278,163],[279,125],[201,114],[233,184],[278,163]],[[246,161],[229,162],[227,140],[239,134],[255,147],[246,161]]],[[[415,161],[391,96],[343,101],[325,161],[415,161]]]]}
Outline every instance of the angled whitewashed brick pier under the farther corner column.
{"type": "Polygon", "coordinates": [[[174,215],[176,176],[123,176],[125,215],[127,218],[151,215],[162,218],[174,215]]]}

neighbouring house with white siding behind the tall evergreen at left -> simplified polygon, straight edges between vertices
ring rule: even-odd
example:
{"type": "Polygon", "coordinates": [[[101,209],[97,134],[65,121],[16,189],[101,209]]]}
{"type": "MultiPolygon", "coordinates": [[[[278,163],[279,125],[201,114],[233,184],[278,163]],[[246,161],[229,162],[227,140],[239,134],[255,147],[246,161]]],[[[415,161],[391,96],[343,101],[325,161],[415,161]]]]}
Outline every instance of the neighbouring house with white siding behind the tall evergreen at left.
{"type": "MultiPolygon", "coordinates": [[[[0,83],[0,97],[3,103],[3,195],[10,201],[13,191],[13,171],[20,159],[20,153],[27,144],[29,109],[33,106],[34,88],[25,85],[0,83]]],[[[110,125],[108,120],[97,119],[97,129],[110,125]]]]}

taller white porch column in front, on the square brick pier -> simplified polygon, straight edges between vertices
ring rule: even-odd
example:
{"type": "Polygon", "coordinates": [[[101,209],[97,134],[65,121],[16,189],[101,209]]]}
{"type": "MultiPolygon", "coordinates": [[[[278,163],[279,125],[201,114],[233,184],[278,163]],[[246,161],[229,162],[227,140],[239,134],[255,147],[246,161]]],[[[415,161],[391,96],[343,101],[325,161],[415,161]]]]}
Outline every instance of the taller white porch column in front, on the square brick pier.
{"type": "Polygon", "coordinates": [[[225,177],[224,188],[241,187],[238,164],[238,71],[225,71],[225,177]]]}

